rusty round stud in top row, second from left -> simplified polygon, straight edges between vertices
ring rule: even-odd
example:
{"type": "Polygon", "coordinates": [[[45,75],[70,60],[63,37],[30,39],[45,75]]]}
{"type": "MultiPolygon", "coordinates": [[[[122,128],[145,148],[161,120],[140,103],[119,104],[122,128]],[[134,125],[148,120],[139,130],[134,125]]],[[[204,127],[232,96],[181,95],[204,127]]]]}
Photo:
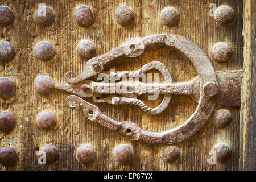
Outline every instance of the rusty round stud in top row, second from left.
{"type": "Polygon", "coordinates": [[[40,27],[49,27],[55,20],[55,13],[48,6],[41,6],[35,12],[36,22],[40,27]]]}

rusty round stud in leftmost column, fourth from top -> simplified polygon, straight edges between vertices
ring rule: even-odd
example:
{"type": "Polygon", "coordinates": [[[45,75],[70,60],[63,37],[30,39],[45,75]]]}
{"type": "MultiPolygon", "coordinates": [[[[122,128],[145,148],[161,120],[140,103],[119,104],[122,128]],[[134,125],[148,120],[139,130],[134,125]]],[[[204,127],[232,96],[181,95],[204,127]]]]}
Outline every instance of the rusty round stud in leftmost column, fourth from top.
{"type": "Polygon", "coordinates": [[[0,130],[11,131],[16,125],[16,119],[13,114],[9,112],[0,113],[0,130]]]}

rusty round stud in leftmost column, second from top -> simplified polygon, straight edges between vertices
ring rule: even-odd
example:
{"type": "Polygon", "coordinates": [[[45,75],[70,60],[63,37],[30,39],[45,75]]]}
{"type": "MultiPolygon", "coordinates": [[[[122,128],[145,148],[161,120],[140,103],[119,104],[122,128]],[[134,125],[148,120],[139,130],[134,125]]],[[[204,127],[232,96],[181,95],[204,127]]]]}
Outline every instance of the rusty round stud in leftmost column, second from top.
{"type": "Polygon", "coordinates": [[[0,42],[0,63],[13,60],[15,53],[16,51],[13,44],[7,41],[0,42]]]}

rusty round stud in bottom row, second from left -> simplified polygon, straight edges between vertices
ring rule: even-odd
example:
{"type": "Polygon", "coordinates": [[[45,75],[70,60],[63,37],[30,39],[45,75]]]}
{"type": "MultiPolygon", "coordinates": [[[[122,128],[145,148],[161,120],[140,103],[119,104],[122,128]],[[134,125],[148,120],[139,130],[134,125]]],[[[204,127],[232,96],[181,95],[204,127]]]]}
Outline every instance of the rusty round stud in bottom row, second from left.
{"type": "Polygon", "coordinates": [[[52,164],[59,159],[59,150],[57,147],[47,144],[39,148],[39,152],[36,154],[38,158],[46,156],[46,164],[52,164]]]}

